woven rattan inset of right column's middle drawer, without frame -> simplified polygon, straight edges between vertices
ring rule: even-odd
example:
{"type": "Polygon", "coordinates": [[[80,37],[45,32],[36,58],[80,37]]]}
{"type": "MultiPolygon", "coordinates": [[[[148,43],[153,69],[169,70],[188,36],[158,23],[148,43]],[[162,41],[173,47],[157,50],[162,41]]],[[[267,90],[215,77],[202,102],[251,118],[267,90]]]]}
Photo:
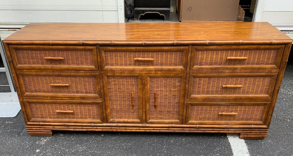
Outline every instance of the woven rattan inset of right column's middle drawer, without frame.
{"type": "Polygon", "coordinates": [[[194,77],[192,95],[268,95],[271,77],[194,77]],[[223,85],[242,85],[223,88],[223,85]]]}

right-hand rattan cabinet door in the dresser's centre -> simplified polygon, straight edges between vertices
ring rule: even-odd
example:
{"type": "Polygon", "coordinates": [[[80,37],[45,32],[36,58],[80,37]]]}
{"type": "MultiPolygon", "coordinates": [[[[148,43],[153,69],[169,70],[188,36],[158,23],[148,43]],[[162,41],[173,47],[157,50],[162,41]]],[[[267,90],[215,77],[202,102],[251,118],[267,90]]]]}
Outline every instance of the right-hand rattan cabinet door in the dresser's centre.
{"type": "Polygon", "coordinates": [[[182,123],[184,92],[185,74],[147,74],[147,122],[182,123]]]}

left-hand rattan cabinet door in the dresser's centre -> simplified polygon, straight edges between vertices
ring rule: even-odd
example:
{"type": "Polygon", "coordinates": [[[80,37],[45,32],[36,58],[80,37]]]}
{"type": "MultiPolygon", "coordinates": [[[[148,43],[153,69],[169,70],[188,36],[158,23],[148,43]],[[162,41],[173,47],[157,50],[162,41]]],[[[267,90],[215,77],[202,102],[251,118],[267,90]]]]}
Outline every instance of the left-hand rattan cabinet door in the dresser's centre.
{"type": "Polygon", "coordinates": [[[144,122],[141,74],[104,74],[107,122],[144,122]]]}

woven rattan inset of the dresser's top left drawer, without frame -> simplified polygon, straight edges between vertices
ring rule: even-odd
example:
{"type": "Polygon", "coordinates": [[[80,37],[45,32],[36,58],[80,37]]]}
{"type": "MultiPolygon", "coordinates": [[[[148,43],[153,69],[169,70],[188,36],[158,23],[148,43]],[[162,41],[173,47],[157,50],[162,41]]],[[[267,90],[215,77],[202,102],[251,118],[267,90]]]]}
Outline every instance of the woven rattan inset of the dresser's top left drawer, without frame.
{"type": "Polygon", "coordinates": [[[16,50],[19,65],[58,65],[58,66],[94,66],[93,50],[16,50]],[[62,57],[63,60],[50,60],[44,57],[62,57]]]}

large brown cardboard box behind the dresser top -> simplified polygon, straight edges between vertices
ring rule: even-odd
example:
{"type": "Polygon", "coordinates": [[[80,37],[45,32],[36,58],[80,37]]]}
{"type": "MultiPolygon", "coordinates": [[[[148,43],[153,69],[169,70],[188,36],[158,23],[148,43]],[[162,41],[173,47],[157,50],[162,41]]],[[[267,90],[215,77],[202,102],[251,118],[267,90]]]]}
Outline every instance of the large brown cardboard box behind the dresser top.
{"type": "Polygon", "coordinates": [[[239,0],[178,0],[177,14],[184,20],[237,20],[239,0]]]}

